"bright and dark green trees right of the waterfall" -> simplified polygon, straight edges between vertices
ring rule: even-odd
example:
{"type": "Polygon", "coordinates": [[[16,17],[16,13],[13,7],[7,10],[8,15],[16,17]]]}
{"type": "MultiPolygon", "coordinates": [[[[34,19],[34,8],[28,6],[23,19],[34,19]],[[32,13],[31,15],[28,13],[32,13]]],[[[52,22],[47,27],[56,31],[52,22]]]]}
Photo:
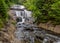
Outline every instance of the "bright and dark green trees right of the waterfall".
{"type": "Polygon", "coordinates": [[[60,0],[26,0],[24,5],[33,12],[36,23],[60,24],[60,0]]]}

